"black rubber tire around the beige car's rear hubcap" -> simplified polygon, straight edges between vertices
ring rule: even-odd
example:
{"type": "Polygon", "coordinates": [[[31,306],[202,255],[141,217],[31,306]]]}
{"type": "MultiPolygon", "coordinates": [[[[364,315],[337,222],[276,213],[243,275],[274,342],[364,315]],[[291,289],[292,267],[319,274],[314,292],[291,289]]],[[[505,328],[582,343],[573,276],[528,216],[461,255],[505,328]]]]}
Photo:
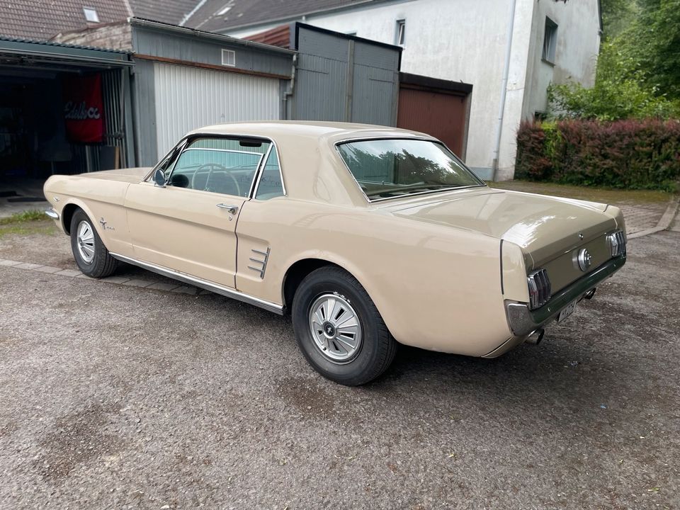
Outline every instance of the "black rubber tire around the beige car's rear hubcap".
{"type": "MultiPolygon", "coordinates": [[[[295,292],[291,314],[297,346],[307,361],[325,378],[341,385],[370,382],[385,372],[395,358],[397,342],[387,331],[378,309],[361,283],[339,267],[326,266],[307,275],[295,292]],[[361,324],[361,342],[344,361],[334,361],[324,354],[326,349],[317,344],[312,333],[310,312],[324,296],[336,296],[348,303],[361,324]]],[[[318,332],[322,333],[322,329],[318,332]]]]}

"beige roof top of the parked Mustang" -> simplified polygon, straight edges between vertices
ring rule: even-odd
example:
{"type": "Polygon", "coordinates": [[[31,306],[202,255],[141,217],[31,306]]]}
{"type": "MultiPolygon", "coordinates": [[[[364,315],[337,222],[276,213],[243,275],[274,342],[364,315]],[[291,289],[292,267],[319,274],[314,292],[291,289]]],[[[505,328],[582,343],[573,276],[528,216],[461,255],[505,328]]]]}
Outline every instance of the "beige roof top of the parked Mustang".
{"type": "Polygon", "coordinates": [[[392,128],[390,126],[360,124],[360,123],[341,123],[341,122],[318,122],[312,120],[265,120],[248,123],[223,123],[205,126],[193,130],[190,135],[197,134],[217,134],[217,135],[253,135],[271,137],[276,139],[280,135],[285,137],[332,137],[333,139],[354,138],[363,136],[417,136],[429,137],[421,132],[392,128]]]}

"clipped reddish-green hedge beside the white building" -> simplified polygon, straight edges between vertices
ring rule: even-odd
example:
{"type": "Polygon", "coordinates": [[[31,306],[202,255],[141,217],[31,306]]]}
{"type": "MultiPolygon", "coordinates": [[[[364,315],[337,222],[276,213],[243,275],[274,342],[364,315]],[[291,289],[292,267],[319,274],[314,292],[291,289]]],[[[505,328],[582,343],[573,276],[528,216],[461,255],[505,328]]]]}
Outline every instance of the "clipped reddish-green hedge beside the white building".
{"type": "Polygon", "coordinates": [[[516,179],[629,189],[680,188],[680,121],[522,123],[516,179]]]}

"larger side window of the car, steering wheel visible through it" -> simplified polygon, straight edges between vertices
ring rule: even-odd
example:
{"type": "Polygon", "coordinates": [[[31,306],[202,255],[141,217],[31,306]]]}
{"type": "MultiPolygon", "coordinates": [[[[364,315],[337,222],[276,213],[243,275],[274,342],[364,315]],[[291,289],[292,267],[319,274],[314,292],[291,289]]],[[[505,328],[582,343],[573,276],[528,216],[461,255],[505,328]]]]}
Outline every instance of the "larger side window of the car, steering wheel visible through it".
{"type": "Polygon", "coordinates": [[[247,197],[269,142],[198,138],[177,158],[168,186],[247,197]]]}

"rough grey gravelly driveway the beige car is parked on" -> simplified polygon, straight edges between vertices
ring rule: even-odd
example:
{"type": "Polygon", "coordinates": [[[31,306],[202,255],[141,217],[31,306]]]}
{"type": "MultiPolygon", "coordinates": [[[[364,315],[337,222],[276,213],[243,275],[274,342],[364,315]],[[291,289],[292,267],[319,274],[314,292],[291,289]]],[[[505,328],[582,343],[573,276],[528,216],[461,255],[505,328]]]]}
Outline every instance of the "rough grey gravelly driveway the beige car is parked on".
{"type": "MultiPolygon", "coordinates": [[[[0,507],[678,509],[679,247],[630,242],[540,346],[404,347],[359,388],[314,373],[287,318],[0,266],[0,507]]],[[[0,258],[68,249],[8,236],[0,258]]]]}

